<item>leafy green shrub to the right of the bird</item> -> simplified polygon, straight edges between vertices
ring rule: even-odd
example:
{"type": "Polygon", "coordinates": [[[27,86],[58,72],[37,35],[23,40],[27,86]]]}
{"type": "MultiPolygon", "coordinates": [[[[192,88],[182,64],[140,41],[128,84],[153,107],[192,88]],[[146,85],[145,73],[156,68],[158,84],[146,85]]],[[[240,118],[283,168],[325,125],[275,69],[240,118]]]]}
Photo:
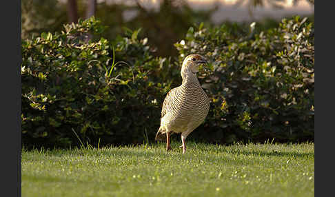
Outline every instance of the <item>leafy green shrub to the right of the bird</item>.
{"type": "Polygon", "coordinates": [[[242,25],[190,28],[179,61],[207,56],[200,73],[210,113],[196,138],[212,142],[314,140],[314,23],[283,19],[258,32],[242,25]]]}

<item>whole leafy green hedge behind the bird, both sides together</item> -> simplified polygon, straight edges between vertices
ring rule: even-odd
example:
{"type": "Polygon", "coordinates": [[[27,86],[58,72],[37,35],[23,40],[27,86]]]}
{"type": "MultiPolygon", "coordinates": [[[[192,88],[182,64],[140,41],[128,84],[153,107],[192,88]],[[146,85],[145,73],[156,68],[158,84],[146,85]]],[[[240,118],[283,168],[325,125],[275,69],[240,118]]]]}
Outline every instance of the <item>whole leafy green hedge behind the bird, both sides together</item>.
{"type": "Polygon", "coordinates": [[[155,56],[140,30],[108,41],[94,17],[22,41],[22,143],[26,147],[149,143],[161,104],[181,83],[184,56],[207,56],[199,73],[210,113],[195,141],[312,141],[314,24],[296,17],[252,32],[243,25],[190,28],[179,58],[155,56]],[[85,41],[87,34],[98,40],[85,41]]]}

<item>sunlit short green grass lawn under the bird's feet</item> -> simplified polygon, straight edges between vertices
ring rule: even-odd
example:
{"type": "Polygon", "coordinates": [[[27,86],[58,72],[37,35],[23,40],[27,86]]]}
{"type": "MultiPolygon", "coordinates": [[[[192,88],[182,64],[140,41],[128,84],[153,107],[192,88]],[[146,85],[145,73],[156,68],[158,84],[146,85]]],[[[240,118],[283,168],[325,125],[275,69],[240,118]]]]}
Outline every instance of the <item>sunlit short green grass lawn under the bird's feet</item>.
{"type": "Polygon", "coordinates": [[[314,143],[22,150],[22,196],[314,196],[314,143]]]}

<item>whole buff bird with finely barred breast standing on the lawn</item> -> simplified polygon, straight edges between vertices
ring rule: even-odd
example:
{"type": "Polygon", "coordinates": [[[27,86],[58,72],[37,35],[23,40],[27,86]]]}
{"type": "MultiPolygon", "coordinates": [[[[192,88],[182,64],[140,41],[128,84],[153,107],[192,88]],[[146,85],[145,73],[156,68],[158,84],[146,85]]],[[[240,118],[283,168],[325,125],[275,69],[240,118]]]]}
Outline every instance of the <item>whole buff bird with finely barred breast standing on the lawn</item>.
{"type": "Polygon", "coordinates": [[[155,140],[164,141],[166,150],[170,150],[170,135],[181,133],[183,154],[186,151],[185,140],[196,129],[208,114],[210,101],[196,78],[199,66],[207,63],[199,54],[186,56],[181,68],[183,83],[167,92],[161,112],[161,126],[155,140]]]}

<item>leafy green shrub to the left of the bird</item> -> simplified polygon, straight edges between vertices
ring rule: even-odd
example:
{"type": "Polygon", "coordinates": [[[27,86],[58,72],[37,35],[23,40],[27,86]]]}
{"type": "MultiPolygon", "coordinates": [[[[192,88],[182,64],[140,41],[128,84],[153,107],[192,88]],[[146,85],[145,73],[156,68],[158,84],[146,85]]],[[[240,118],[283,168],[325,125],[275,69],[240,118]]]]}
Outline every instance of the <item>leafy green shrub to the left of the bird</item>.
{"type": "Polygon", "coordinates": [[[128,144],[154,136],[161,95],[172,83],[163,71],[173,65],[151,55],[139,30],[85,43],[88,32],[103,29],[91,18],[22,42],[23,144],[128,144]]]}

